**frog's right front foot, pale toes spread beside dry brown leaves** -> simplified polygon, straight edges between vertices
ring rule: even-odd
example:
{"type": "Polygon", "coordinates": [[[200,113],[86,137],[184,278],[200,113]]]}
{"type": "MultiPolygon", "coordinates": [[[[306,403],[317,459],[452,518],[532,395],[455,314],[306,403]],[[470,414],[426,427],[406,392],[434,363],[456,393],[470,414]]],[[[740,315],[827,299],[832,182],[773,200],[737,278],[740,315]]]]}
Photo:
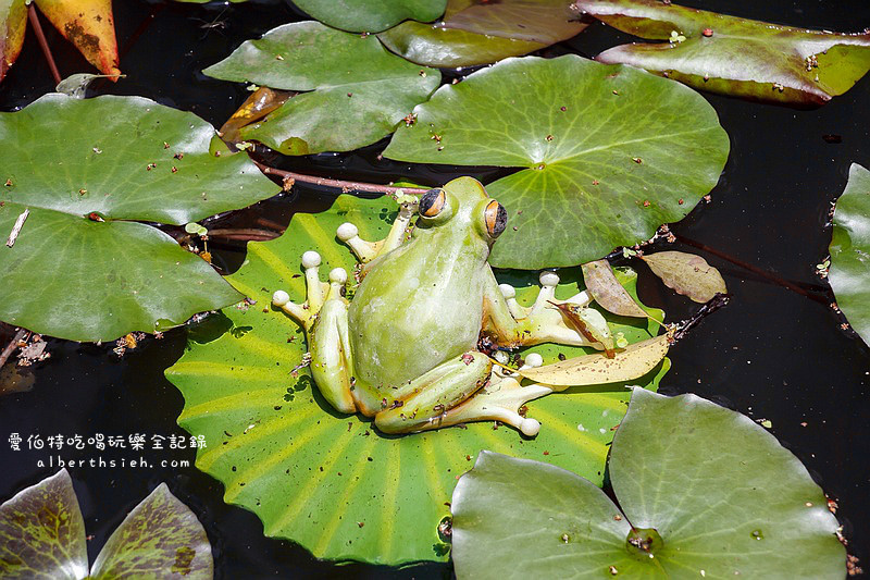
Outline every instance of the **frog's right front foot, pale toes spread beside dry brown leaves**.
{"type": "Polygon", "coordinates": [[[540,272],[540,291],[535,304],[524,307],[517,301],[517,291],[510,284],[499,284],[498,289],[507,303],[508,310],[515,321],[508,342],[512,346],[533,345],[540,343],[558,343],[573,346],[596,346],[576,329],[566,324],[564,317],[556,305],[570,304],[588,306],[592,297],[585,292],[580,292],[567,300],[556,299],[556,286],[559,275],[556,272],[540,272]]]}

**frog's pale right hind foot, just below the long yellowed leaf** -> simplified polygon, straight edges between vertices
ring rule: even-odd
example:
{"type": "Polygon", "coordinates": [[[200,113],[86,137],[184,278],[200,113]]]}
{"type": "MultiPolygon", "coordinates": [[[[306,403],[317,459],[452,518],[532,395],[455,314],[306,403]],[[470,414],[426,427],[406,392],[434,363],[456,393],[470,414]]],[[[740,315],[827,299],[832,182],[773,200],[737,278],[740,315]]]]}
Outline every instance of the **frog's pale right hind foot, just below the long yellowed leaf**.
{"type": "MultiPolygon", "coordinates": [[[[522,368],[539,367],[540,355],[533,353],[522,368]]],[[[522,434],[533,437],[540,431],[540,423],[524,417],[523,406],[532,399],[552,393],[552,388],[540,384],[520,385],[521,378],[501,367],[494,367],[489,382],[473,397],[430,419],[426,429],[467,423],[471,421],[501,421],[522,434]],[[521,415],[522,412],[522,415],[521,415]]]]}

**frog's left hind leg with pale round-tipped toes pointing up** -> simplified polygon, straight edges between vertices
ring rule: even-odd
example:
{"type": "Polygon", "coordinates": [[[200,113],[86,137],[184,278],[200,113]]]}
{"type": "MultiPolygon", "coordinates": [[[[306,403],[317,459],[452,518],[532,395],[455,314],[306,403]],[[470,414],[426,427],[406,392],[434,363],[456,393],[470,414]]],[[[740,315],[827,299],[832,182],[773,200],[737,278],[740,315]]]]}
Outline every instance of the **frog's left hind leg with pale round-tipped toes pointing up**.
{"type": "Polygon", "coordinates": [[[311,375],[323,398],[336,410],[357,412],[352,397],[352,357],[347,332],[347,300],[341,289],[347,282],[344,268],[330,272],[330,283],[320,281],[321,257],[316,251],[302,255],[308,299],[303,305],[290,301],[289,295],[277,291],[272,304],[296,319],[306,331],[311,356],[311,375]]]}

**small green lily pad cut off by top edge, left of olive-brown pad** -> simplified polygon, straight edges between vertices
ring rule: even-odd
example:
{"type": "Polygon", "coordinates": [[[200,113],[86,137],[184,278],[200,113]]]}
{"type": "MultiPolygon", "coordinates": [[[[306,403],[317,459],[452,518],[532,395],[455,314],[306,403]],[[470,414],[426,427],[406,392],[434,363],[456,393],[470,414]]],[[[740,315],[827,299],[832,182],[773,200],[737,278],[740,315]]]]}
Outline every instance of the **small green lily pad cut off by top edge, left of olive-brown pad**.
{"type": "Polygon", "coordinates": [[[403,20],[431,22],[447,0],[294,0],[324,24],[351,33],[380,33],[403,20]]]}

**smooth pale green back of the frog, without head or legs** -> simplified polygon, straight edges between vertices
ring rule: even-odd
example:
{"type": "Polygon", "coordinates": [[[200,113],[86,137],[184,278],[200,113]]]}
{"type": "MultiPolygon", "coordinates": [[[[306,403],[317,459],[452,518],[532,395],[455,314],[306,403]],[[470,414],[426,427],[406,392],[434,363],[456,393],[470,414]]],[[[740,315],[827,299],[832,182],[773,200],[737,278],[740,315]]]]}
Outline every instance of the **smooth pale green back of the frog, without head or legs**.
{"type": "Polygon", "coordinates": [[[462,246],[451,251],[410,243],[383,256],[348,312],[357,383],[388,393],[474,349],[483,318],[482,268],[488,270],[486,256],[462,246]],[[418,251],[427,254],[420,258],[418,251]]]}

